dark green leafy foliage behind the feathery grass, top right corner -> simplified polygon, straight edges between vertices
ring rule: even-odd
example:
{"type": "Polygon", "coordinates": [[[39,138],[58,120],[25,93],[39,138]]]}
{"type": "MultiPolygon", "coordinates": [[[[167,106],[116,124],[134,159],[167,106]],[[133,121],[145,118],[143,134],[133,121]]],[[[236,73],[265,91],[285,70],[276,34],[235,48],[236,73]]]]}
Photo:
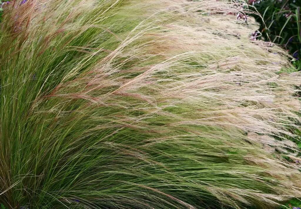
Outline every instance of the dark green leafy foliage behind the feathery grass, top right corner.
{"type": "Polygon", "coordinates": [[[286,49],[293,65],[300,70],[301,49],[301,0],[249,0],[260,16],[255,16],[261,25],[259,31],[265,40],[271,40],[286,49]]]}

